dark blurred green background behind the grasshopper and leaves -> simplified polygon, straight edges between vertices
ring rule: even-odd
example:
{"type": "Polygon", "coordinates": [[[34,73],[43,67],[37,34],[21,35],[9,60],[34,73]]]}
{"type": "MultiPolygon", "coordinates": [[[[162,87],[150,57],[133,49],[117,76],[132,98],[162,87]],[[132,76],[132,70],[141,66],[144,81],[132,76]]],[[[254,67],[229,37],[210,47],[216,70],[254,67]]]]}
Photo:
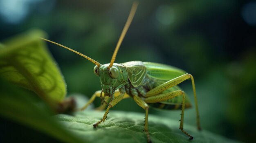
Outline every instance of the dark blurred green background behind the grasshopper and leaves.
{"type": "MultiPolygon", "coordinates": [[[[49,40],[101,64],[109,63],[132,2],[0,0],[0,41],[29,29],[42,29],[49,40]]],[[[94,64],[54,44],[48,46],[65,77],[68,95],[81,93],[90,98],[101,90],[99,78],[93,73],[94,64]]],[[[255,0],[139,1],[115,62],[134,60],[168,64],[191,73],[203,130],[243,142],[254,141],[255,0]]],[[[181,87],[193,102],[191,81],[181,87]]],[[[94,103],[99,106],[100,100],[94,103]]],[[[112,110],[144,112],[132,99],[121,101],[112,110]]],[[[150,114],[180,119],[180,111],[150,109],[150,114]]],[[[194,108],[185,111],[184,122],[196,125],[194,108]]],[[[13,124],[4,120],[1,127],[13,124]]],[[[15,127],[5,135],[25,128],[15,127]]]]}

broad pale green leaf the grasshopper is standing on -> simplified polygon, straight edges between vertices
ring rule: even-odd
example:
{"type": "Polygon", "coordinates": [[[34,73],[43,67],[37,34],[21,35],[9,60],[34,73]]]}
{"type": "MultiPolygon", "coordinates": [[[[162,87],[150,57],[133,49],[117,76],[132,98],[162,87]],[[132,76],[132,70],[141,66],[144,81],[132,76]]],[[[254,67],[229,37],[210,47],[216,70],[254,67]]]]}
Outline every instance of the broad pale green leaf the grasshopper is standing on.
{"type": "MultiPolygon", "coordinates": [[[[104,112],[85,110],[74,116],[58,114],[54,118],[65,127],[90,143],[146,143],[144,130],[144,114],[135,112],[110,111],[108,120],[93,128],[93,123],[101,119],[104,112]]],[[[149,114],[149,133],[153,143],[231,143],[236,142],[225,137],[212,134],[196,127],[184,125],[194,139],[182,133],[179,121],[149,114]]]]}

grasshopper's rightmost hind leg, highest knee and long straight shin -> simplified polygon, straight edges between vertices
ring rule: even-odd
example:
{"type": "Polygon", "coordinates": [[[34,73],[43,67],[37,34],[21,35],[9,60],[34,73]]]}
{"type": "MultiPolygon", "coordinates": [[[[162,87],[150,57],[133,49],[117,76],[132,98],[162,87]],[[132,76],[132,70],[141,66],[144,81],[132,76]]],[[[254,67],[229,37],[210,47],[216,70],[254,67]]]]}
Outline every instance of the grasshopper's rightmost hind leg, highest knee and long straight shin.
{"type": "Polygon", "coordinates": [[[193,88],[194,99],[195,99],[195,110],[196,110],[198,130],[201,130],[200,119],[199,119],[199,111],[198,111],[198,101],[197,101],[196,91],[195,91],[195,81],[194,81],[194,78],[191,74],[186,73],[184,75],[181,75],[180,77],[176,77],[175,79],[171,79],[171,80],[165,82],[164,84],[161,84],[161,85],[153,88],[152,90],[149,90],[148,92],[146,92],[146,97],[151,97],[151,96],[154,96],[154,95],[158,95],[159,93],[167,90],[168,88],[176,86],[177,84],[180,84],[181,82],[183,82],[184,80],[189,79],[189,78],[191,78],[191,81],[192,81],[192,88],[193,88]]]}

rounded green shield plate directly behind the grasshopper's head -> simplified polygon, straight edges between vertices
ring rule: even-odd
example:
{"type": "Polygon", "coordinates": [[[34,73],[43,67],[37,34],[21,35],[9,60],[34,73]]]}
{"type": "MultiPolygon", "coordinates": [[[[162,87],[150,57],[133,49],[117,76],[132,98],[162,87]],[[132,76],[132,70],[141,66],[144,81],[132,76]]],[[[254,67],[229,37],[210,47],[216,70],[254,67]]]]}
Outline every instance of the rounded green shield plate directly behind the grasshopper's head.
{"type": "Polygon", "coordinates": [[[132,86],[138,87],[141,85],[146,76],[146,67],[141,61],[132,61],[123,63],[127,69],[128,79],[132,86]]]}

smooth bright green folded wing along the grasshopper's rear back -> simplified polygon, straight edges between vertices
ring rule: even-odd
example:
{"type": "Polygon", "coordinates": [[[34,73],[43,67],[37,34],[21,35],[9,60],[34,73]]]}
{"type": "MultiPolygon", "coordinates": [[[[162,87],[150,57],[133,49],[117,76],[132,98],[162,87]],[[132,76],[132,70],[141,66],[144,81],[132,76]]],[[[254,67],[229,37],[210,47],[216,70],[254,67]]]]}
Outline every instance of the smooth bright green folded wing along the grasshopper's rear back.
{"type": "Polygon", "coordinates": [[[147,75],[149,77],[163,81],[174,79],[186,73],[184,70],[165,64],[153,62],[143,62],[143,64],[147,68],[147,75]]]}

